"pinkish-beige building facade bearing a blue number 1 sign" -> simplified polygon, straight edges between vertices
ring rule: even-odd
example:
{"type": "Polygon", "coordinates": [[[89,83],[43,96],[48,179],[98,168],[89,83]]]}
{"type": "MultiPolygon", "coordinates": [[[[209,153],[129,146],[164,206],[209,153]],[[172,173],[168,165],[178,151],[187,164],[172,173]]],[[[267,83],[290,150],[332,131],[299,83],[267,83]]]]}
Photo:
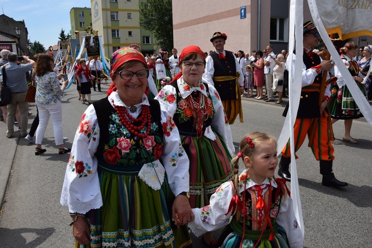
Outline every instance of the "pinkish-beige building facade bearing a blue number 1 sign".
{"type": "MultiPolygon", "coordinates": [[[[214,51],[209,41],[214,32],[225,33],[225,49],[263,50],[268,44],[275,54],[288,52],[290,0],[187,0],[172,1],[174,46],[179,51],[196,45],[204,52],[214,51]],[[242,16],[242,10],[245,15],[242,16]]],[[[304,22],[312,20],[308,1],[304,0],[304,22]]],[[[358,38],[350,39],[358,42],[358,38]]],[[[336,41],[340,48],[347,41],[336,41]]],[[[361,37],[360,45],[371,44],[361,37]]]]}

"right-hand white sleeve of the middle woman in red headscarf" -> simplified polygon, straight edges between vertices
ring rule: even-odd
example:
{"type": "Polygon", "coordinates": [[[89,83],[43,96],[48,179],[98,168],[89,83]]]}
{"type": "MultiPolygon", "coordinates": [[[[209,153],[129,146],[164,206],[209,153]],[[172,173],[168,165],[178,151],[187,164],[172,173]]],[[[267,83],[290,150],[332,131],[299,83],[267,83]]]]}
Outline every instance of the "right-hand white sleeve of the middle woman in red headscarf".
{"type": "Polygon", "coordinates": [[[211,125],[218,131],[219,134],[222,135],[226,144],[229,146],[231,153],[233,153],[235,151],[233,136],[231,134],[230,125],[227,121],[227,116],[220,100],[220,96],[216,88],[214,88],[213,86],[209,86],[208,88],[214,107],[214,118],[211,125]]]}

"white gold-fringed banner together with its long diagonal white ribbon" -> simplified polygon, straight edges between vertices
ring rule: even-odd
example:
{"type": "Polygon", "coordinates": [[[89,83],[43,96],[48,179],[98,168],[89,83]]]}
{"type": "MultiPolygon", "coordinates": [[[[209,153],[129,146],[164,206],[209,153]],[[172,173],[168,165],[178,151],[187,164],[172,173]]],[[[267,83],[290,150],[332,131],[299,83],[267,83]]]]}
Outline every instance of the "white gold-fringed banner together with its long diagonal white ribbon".
{"type": "MultiPolygon", "coordinates": [[[[360,35],[372,36],[372,0],[308,0],[308,2],[312,19],[324,44],[345,79],[345,83],[364,118],[372,126],[371,105],[355,83],[328,37],[330,31],[337,31],[337,34],[343,39],[360,35]]],[[[371,72],[371,69],[370,66],[368,73],[371,72]]],[[[368,77],[365,77],[362,84],[366,83],[367,79],[368,77]]]]}

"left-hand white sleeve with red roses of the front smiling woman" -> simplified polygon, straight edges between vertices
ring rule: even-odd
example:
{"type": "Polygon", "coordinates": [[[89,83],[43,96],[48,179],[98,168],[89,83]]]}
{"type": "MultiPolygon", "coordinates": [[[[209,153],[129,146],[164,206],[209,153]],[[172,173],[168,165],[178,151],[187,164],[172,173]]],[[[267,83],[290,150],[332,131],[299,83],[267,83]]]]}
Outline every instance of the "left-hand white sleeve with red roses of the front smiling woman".
{"type": "Polygon", "coordinates": [[[102,206],[94,156],[99,143],[99,126],[93,105],[81,117],[67,162],[61,204],[70,212],[86,213],[102,206]]]}

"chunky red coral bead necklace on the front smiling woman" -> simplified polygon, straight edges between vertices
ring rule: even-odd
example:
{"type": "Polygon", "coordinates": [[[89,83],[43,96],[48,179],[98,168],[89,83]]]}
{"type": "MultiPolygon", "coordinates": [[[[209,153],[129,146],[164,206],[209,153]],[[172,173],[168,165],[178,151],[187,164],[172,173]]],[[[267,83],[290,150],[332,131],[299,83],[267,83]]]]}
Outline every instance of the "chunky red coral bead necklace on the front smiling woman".
{"type": "MultiPolygon", "coordinates": [[[[113,101],[114,103],[114,101],[113,101]]],[[[120,118],[119,123],[124,125],[125,128],[135,136],[140,138],[146,138],[150,134],[151,129],[151,115],[150,106],[142,105],[142,112],[137,118],[133,118],[128,111],[126,111],[124,106],[117,106],[114,104],[116,113],[120,118]],[[139,133],[145,126],[147,126],[146,133],[139,133]]]]}

